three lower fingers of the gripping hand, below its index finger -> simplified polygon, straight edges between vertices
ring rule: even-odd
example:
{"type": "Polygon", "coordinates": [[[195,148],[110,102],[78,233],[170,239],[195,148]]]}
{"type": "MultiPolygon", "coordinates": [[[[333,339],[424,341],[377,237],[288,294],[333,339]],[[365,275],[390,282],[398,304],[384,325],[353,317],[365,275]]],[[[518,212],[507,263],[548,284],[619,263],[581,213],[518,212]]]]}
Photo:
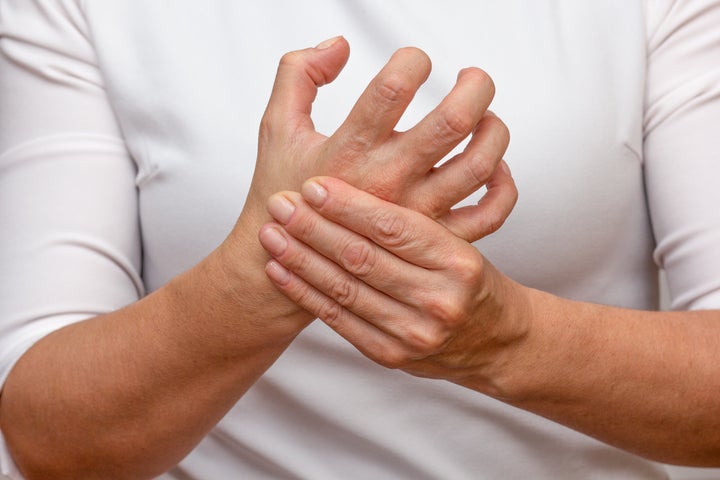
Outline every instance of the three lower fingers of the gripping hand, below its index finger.
{"type": "MultiPolygon", "coordinates": [[[[456,316],[464,302],[443,292],[455,292],[456,276],[403,261],[322,217],[293,192],[274,195],[268,210],[284,223],[266,224],[260,231],[261,243],[274,258],[266,267],[268,277],[363,353],[384,365],[400,366],[448,340],[448,325],[420,312],[444,316],[452,311],[456,316]],[[293,211],[282,202],[293,203],[293,211]]],[[[443,243],[441,238],[435,241],[443,243]]]]}

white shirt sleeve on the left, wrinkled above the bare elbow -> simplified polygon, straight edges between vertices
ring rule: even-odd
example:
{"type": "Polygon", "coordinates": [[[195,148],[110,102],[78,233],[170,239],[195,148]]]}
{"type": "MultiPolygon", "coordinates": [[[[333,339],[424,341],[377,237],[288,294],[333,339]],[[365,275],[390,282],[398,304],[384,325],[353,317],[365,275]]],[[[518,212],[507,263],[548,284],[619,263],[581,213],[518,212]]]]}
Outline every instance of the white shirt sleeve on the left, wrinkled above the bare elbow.
{"type": "Polygon", "coordinates": [[[144,294],[136,174],[82,5],[0,0],[0,388],[43,336],[144,294]]]}

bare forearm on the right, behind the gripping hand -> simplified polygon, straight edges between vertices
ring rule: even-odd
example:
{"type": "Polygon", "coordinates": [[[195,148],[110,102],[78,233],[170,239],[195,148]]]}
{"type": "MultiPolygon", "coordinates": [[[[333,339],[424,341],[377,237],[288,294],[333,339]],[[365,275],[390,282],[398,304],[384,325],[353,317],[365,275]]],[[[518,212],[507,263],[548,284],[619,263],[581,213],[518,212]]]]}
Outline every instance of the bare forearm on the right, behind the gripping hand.
{"type": "Polygon", "coordinates": [[[720,464],[718,311],[647,312],[526,289],[503,400],[639,455],[720,464]]]}

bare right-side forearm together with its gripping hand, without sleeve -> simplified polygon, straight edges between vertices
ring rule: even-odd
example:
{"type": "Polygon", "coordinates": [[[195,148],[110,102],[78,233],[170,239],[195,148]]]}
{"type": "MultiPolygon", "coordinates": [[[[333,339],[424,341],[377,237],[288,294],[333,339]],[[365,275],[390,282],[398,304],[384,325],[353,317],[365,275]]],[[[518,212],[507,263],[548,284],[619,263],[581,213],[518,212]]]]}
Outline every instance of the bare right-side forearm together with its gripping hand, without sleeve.
{"type": "MultiPolygon", "coordinates": [[[[497,172],[490,183],[507,182],[497,172]]],[[[720,464],[720,311],[564,300],[513,282],[439,223],[337,179],[302,192],[270,199],[271,212],[280,198],[295,208],[261,232],[268,275],[369,358],[654,460],[720,464]]]]}

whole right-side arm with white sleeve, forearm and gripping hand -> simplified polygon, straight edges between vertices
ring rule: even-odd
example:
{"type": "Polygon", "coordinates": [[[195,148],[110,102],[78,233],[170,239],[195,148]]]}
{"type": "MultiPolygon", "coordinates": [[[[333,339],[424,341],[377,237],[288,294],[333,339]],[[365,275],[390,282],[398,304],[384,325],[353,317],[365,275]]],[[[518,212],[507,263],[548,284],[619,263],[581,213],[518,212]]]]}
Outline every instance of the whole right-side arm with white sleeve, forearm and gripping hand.
{"type": "Polygon", "coordinates": [[[320,180],[327,199],[314,211],[309,187],[305,201],[282,194],[297,210],[276,216],[282,228],[266,227],[288,245],[269,249],[268,274],[383,365],[457,382],[651,459],[720,465],[718,22],[715,0],[648,2],[646,189],[656,260],[684,311],[520,286],[439,225],[333,179],[320,180]]]}

